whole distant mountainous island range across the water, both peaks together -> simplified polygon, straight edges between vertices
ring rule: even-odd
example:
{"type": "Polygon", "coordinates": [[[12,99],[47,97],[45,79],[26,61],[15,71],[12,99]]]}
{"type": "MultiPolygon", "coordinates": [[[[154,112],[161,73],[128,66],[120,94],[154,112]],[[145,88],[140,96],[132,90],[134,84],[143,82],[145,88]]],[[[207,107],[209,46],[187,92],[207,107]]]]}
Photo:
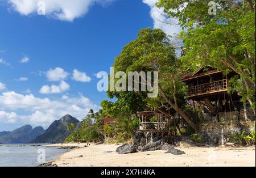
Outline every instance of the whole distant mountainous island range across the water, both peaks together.
{"type": "Polygon", "coordinates": [[[13,132],[0,132],[0,143],[62,143],[73,132],[67,129],[71,122],[75,122],[76,127],[79,127],[79,120],[71,115],[65,115],[60,120],[53,121],[46,130],[41,126],[33,129],[31,125],[24,125],[13,132]]]}

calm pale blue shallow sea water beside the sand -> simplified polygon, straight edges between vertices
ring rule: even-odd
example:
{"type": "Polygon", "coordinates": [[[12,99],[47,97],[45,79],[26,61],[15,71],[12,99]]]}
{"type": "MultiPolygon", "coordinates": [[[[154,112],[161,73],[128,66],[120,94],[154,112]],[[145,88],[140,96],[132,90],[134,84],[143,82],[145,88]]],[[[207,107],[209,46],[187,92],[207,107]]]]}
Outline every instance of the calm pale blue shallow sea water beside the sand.
{"type": "MultiPolygon", "coordinates": [[[[0,167],[35,167],[41,164],[38,162],[39,149],[45,150],[46,162],[50,162],[59,158],[61,154],[67,150],[57,149],[56,147],[34,147],[34,146],[18,146],[18,145],[2,145],[0,146],[0,167]]],[[[40,160],[40,159],[39,159],[40,160]]]]}

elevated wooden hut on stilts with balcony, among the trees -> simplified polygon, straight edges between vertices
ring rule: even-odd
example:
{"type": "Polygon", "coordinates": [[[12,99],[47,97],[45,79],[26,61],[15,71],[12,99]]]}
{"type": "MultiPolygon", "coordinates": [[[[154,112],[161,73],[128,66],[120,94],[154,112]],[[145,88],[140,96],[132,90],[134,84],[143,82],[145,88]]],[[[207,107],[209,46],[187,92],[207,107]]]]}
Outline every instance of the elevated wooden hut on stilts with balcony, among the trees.
{"type": "Polygon", "coordinates": [[[234,113],[240,120],[243,107],[241,96],[237,92],[228,93],[229,80],[237,73],[232,71],[225,75],[223,72],[212,66],[204,66],[192,75],[185,75],[182,81],[187,84],[187,99],[204,104],[204,111],[217,116],[217,121],[221,117],[233,117],[234,113]]]}

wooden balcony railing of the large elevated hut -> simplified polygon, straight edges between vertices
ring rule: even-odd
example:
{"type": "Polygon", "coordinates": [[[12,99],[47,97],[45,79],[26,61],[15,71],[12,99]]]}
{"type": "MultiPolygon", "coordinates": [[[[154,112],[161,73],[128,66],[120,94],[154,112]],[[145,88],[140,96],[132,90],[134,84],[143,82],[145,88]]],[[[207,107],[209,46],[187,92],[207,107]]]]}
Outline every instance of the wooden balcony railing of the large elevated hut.
{"type": "Polygon", "coordinates": [[[226,91],[228,89],[227,79],[218,80],[214,82],[199,84],[187,88],[187,97],[211,94],[218,91],[226,91]]]}

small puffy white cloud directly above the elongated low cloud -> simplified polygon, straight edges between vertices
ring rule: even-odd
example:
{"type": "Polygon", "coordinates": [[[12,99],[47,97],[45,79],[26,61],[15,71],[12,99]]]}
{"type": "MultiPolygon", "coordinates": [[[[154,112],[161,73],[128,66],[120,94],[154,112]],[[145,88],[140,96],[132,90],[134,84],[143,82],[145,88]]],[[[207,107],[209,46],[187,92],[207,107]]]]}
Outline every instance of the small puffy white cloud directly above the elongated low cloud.
{"type": "Polygon", "coordinates": [[[60,67],[56,67],[55,69],[50,69],[46,72],[47,79],[49,81],[55,81],[55,82],[66,79],[68,75],[69,74],[60,67]]]}

